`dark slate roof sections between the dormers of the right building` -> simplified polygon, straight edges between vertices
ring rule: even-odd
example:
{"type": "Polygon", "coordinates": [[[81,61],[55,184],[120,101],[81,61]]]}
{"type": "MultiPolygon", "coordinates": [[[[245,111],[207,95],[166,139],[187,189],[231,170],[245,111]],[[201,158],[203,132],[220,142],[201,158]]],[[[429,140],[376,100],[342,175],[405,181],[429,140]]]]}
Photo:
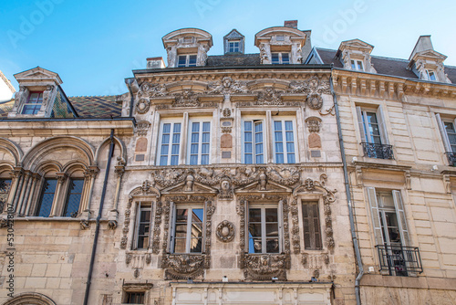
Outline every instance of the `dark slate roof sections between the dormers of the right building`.
{"type": "MultiPolygon", "coordinates": [[[[337,50],[316,47],[316,52],[324,64],[333,64],[334,68],[344,68],[340,60],[336,58],[337,50]]],[[[409,70],[409,60],[400,58],[384,58],[371,56],[371,62],[378,74],[390,75],[406,79],[419,79],[409,70]]],[[[445,73],[452,83],[456,82],[456,67],[445,66],[445,73]]]]}

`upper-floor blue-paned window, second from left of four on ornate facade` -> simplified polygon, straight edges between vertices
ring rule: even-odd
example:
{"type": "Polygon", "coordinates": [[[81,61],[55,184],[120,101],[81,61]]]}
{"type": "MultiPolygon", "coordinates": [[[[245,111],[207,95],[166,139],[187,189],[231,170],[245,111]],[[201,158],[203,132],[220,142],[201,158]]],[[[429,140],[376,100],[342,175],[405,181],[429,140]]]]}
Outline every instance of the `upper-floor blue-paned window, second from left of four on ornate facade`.
{"type": "Polygon", "coordinates": [[[211,122],[192,121],[190,132],[190,164],[209,164],[211,122]]]}

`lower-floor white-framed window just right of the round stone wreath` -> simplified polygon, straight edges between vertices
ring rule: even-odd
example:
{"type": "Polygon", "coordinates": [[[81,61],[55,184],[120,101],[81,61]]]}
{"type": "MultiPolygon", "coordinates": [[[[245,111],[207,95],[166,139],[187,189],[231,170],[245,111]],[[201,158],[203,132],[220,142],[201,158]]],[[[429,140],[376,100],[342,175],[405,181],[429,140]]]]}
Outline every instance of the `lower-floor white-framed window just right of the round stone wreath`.
{"type": "Polygon", "coordinates": [[[252,206],[248,211],[248,252],[279,253],[281,235],[277,207],[252,206]]]}

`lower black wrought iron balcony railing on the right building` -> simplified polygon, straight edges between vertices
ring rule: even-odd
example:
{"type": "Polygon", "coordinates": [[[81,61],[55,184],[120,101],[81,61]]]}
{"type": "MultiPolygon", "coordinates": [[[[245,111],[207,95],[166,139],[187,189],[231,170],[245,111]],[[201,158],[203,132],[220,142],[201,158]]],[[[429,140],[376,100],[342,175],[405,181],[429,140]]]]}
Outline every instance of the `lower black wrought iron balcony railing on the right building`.
{"type": "Polygon", "coordinates": [[[423,272],[420,249],[377,245],[380,271],[388,271],[391,276],[408,277],[410,272],[423,272]]]}

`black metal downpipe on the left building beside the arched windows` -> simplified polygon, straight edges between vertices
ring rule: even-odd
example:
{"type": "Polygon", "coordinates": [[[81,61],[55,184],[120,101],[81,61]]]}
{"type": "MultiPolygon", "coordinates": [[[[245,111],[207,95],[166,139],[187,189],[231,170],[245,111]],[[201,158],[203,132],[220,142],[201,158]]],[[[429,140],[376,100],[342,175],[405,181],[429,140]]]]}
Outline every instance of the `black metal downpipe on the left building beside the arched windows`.
{"type": "Polygon", "coordinates": [[[110,144],[109,144],[108,163],[106,164],[105,180],[103,182],[103,191],[101,192],[101,199],[99,201],[97,226],[95,227],[95,237],[93,237],[92,255],[90,257],[90,265],[88,267],[88,280],[87,280],[87,285],[86,285],[86,294],[84,295],[84,305],[88,305],[88,293],[90,292],[93,265],[95,263],[95,254],[97,252],[97,245],[98,245],[99,220],[101,219],[101,213],[103,211],[103,205],[105,202],[105,195],[106,195],[106,187],[108,185],[109,167],[111,164],[112,154],[114,153],[114,130],[113,129],[111,129],[109,141],[110,141],[110,144]]]}

